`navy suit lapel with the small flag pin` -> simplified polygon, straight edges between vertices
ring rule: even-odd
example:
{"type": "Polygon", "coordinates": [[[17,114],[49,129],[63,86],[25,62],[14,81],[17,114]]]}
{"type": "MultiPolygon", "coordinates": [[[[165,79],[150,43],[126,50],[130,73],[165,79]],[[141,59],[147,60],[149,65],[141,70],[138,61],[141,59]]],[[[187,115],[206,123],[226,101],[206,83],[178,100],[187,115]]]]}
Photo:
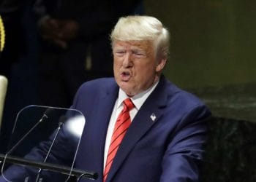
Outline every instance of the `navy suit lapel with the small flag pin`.
{"type": "Polygon", "coordinates": [[[116,157],[110,168],[107,181],[111,181],[117,170],[121,167],[124,159],[135,144],[162,116],[163,108],[167,104],[167,92],[164,89],[165,79],[161,79],[154,92],[147,98],[140,111],[136,114],[126,135],[118,148],[116,157]]]}

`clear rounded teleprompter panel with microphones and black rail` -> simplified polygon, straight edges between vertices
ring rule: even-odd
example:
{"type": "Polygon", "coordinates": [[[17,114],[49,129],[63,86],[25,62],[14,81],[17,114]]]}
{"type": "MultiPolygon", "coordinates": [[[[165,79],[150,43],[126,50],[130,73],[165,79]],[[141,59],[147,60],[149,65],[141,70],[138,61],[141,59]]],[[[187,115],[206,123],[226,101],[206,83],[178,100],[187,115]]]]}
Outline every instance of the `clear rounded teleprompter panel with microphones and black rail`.
{"type": "Polygon", "coordinates": [[[97,179],[97,173],[75,168],[85,124],[83,114],[72,108],[23,108],[16,117],[7,152],[0,154],[0,182],[97,179]]]}

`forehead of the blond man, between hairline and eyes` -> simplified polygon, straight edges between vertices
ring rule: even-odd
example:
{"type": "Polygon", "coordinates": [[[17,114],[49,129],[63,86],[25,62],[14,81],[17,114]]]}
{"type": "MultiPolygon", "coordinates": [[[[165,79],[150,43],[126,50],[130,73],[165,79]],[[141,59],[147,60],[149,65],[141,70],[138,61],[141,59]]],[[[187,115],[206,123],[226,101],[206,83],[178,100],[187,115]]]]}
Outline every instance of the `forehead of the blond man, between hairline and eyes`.
{"type": "Polygon", "coordinates": [[[153,43],[152,41],[143,40],[143,41],[114,41],[113,49],[122,48],[122,49],[140,49],[140,50],[152,50],[153,43]]]}

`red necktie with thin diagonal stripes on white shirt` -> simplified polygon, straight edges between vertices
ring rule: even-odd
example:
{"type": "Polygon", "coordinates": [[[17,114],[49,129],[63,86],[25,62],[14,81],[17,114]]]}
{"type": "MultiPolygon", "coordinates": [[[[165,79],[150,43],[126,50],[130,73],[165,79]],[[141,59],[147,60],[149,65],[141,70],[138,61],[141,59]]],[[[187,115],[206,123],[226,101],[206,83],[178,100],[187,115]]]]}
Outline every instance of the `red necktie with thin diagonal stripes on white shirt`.
{"type": "Polygon", "coordinates": [[[103,174],[103,182],[105,182],[107,179],[108,173],[110,171],[110,167],[112,165],[114,157],[116,156],[118,147],[120,146],[121,141],[123,140],[124,135],[127,132],[129,124],[131,124],[131,117],[129,116],[129,111],[132,110],[132,108],[134,107],[135,106],[132,103],[132,100],[130,100],[129,98],[124,100],[124,108],[121,111],[121,113],[118,115],[115,128],[113,130],[113,135],[110,141],[107,162],[106,162],[105,170],[103,174]]]}

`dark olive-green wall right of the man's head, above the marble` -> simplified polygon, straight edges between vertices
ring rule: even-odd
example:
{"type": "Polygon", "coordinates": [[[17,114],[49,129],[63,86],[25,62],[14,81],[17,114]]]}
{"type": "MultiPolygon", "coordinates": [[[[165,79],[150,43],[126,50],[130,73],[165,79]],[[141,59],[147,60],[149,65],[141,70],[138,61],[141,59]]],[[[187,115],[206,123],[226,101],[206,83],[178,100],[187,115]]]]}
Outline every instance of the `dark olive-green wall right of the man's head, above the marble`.
{"type": "Polygon", "coordinates": [[[181,87],[256,82],[256,1],[145,1],[171,32],[165,74],[181,87]]]}

